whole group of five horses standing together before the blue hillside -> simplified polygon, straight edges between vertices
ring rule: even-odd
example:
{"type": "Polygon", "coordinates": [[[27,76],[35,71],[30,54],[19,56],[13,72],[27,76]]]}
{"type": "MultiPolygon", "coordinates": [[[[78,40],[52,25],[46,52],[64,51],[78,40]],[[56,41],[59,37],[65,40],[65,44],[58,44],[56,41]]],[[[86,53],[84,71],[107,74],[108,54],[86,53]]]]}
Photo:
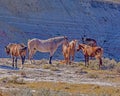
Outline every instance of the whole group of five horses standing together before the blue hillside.
{"type": "Polygon", "coordinates": [[[21,68],[23,68],[27,51],[28,59],[31,63],[34,61],[33,56],[37,51],[49,52],[49,64],[52,64],[52,57],[60,45],[62,45],[62,53],[66,64],[71,63],[71,57],[72,61],[74,61],[76,51],[82,50],[85,58],[85,66],[89,65],[89,57],[99,59],[99,68],[102,65],[103,48],[97,46],[97,42],[90,38],[82,38],[82,44],[79,44],[78,40],[69,42],[66,36],[54,37],[47,40],[35,38],[28,40],[27,46],[24,44],[10,43],[5,46],[5,51],[8,55],[11,55],[13,67],[17,68],[17,58],[20,57],[22,60],[21,68]]]}

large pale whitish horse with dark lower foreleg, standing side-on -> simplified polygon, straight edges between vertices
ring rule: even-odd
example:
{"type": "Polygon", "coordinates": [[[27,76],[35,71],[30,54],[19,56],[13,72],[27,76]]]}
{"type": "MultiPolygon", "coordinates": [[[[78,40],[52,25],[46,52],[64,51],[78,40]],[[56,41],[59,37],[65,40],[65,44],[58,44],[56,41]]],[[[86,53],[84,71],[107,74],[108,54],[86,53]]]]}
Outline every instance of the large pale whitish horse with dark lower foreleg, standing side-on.
{"type": "Polygon", "coordinates": [[[66,36],[60,36],[60,37],[54,37],[47,40],[41,40],[41,39],[31,39],[28,41],[28,52],[29,52],[29,60],[33,58],[33,55],[39,51],[39,52],[49,52],[49,64],[52,64],[51,60],[56,52],[57,48],[63,44],[64,42],[67,42],[66,36]]]}

